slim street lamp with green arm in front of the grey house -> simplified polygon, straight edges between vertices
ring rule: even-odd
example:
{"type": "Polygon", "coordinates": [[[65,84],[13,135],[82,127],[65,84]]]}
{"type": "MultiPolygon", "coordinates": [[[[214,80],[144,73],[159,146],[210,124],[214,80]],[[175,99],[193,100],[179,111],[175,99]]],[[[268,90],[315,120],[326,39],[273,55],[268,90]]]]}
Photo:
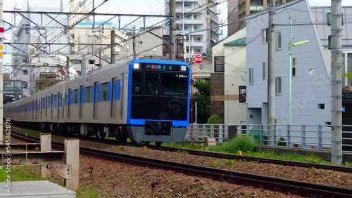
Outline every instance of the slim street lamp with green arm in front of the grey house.
{"type": "Polygon", "coordinates": [[[308,43],[309,41],[299,41],[297,43],[292,44],[293,36],[292,36],[292,18],[291,20],[291,28],[290,28],[290,41],[289,41],[289,125],[292,124],[292,46],[300,46],[308,43]]]}

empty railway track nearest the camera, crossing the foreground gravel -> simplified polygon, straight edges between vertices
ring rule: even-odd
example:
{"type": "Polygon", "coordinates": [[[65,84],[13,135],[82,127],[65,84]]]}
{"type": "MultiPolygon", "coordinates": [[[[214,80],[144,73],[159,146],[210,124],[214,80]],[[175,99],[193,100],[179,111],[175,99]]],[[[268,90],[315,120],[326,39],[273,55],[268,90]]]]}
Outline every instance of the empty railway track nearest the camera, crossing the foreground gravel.
{"type": "MultiPolygon", "coordinates": [[[[40,138],[34,136],[25,136],[22,133],[16,133],[15,131],[12,131],[11,133],[12,136],[15,136],[14,138],[19,140],[27,142],[32,141],[36,143],[40,142],[40,138]]],[[[53,148],[63,150],[63,143],[52,141],[51,144],[53,148]]],[[[169,169],[172,171],[189,173],[191,175],[209,177],[214,180],[220,180],[228,183],[263,187],[280,192],[291,192],[293,194],[300,194],[301,196],[307,197],[352,197],[352,189],[342,187],[307,183],[297,180],[287,180],[270,176],[260,176],[251,173],[225,171],[223,169],[208,168],[205,166],[194,166],[191,164],[181,164],[172,161],[137,157],[116,152],[107,152],[89,147],[80,147],[80,154],[113,161],[123,161],[128,164],[151,166],[157,169],[169,169]]]]}

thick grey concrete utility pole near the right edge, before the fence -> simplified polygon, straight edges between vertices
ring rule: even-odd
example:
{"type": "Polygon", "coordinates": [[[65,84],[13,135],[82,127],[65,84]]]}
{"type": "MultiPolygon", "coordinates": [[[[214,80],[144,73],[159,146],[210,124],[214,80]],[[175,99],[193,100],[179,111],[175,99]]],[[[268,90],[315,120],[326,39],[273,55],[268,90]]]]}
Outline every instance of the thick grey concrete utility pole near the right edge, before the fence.
{"type": "Polygon", "coordinates": [[[331,93],[332,93],[332,114],[331,114],[331,130],[332,130],[332,153],[331,161],[334,165],[342,164],[342,51],[341,51],[341,1],[331,1],[331,93]]]}

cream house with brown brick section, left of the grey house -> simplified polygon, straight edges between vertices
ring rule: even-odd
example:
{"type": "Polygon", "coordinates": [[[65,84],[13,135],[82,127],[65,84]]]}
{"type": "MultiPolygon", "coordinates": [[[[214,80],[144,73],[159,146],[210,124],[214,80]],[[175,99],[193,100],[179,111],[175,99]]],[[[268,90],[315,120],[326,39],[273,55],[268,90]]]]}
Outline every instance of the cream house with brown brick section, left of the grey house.
{"type": "Polygon", "coordinates": [[[213,65],[211,114],[240,124],[246,120],[246,27],[213,46],[213,65]]]}

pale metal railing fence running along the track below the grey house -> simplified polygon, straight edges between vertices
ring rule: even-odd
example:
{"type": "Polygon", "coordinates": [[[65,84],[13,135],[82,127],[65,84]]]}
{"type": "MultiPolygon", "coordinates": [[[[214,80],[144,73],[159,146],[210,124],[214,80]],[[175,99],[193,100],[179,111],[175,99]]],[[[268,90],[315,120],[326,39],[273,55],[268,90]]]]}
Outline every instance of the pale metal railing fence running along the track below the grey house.
{"type": "MultiPolygon", "coordinates": [[[[239,135],[251,135],[260,145],[271,147],[301,148],[303,150],[331,150],[329,125],[268,125],[268,124],[191,124],[185,141],[201,142],[215,138],[226,143],[239,135]]],[[[352,125],[342,126],[344,152],[352,152],[352,125]]]]}

